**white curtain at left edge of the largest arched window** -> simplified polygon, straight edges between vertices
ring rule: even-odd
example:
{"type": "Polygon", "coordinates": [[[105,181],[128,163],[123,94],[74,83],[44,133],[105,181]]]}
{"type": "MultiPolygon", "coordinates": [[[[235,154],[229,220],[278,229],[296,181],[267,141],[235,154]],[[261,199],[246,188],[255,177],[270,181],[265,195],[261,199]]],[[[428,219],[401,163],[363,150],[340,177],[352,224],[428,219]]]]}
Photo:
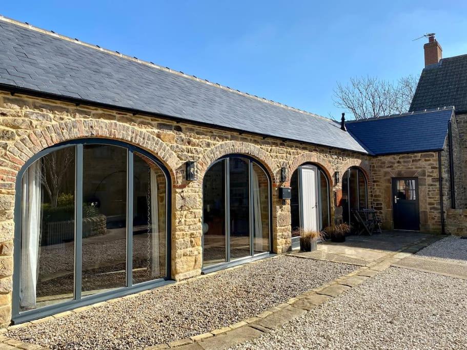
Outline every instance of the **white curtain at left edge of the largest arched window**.
{"type": "Polygon", "coordinates": [[[36,304],[36,285],[39,265],[40,203],[40,159],[31,164],[24,173],[22,198],[21,232],[21,292],[23,307],[36,304]]]}

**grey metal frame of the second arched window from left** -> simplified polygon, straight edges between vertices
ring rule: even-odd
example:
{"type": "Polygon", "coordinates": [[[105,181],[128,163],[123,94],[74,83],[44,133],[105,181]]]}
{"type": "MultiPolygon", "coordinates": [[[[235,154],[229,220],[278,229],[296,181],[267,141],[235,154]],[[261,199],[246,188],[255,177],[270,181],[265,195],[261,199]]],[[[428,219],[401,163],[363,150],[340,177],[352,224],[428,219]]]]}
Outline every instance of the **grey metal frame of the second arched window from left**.
{"type": "MultiPolygon", "coordinates": [[[[228,154],[226,156],[223,156],[216,161],[214,161],[206,170],[206,173],[218,162],[223,161],[225,163],[225,174],[224,174],[224,189],[225,189],[225,212],[224,212],[224,219],[225,219],[225,239],[226,239],[226,261],[224,262],[219,262],[216,264],[212,264],[209,266],[203,266],[201,268],[201,272],[203,274],[207,274],[210,272],[222,270],[222,269],[227,269],[228,267],[231,266],[236,266],[242,263],[247,263],[250,261],[255,261],[260,258],[264,258],[273,254],[273,244],[272,244],[272,205],[271,205],[271,200],[272,200],[272,186],[271,186],[271,177],[265,168],[260,162],[258,162],[255,158],[246,155],[246,154],[241,154],[241,153],[233,153],[233,154],[228,154]],[[250,255],[245,256],[245,257],[240,257],[236,259],[231,259],[230,256],[230,160],[233,158],[243,158],[248,160],[248,189],[249,189],[249,228],[250,228],[250,255]],[[254,254],[254,236],[253,236],[253,205],[252,203],[252,170],[253,170],[253,164],[256,164],[259,166],[259,168],[265,173],[267,179],[268,179],[268,213],[269,213],[269,252],[262,252],[258,254],[254,254]]],[[[206,174],[205,173],[205,174],[206,174]]],[[[204,215],[204,188],[203,188],[203,215],[204,215]]],[[[204,222],[204,218],[202,219],[204,222]]],[[[202,247],[202,255],[203,255],[203,263],[204,263],[204,245],[205,245],[205,240],[204,240],[204,234],[202,235],[201,239],[201,247],[202,247]]]]}

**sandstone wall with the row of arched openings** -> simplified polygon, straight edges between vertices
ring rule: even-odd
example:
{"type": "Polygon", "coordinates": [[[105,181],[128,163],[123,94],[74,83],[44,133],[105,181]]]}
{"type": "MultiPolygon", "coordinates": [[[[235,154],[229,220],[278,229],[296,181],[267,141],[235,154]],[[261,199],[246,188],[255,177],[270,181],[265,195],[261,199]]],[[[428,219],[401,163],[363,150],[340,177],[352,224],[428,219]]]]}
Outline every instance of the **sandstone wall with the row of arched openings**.
{"type": "Polygon", "coordinates": [[[290,203],[278,198],[277,188],[289,185],[279,182],[281,167],[288,168],[290,179],[300,164],[315,162],[328,174],[334,192],[340,189],[334,173],[343,174],[351,166],[361,167],[372,183],[370,157],[358,153],[0,92],[0,325],[9,322],[11,313],[16,174],[39,151],[87,137],[131,143],[152,153],[169,170],[172,278],[177,280],[201,272],[202,179],[219,157],[247,154],[267,169],[272,179],[272,243],[277,253],[291,246],[290,203]],[[196,181],[185,180],[187,160],[198,162],[196,181]]]}

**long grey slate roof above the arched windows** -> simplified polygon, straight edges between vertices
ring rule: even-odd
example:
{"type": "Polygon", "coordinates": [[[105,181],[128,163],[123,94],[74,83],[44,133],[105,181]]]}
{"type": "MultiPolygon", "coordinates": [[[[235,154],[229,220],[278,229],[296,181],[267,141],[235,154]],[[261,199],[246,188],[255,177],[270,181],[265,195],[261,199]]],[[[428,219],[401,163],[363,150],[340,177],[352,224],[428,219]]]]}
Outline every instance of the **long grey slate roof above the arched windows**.
{"type": "Polygon", "coordinates": [[[367,153],[339,124],[0,17],[0,85],[367,153]]]}

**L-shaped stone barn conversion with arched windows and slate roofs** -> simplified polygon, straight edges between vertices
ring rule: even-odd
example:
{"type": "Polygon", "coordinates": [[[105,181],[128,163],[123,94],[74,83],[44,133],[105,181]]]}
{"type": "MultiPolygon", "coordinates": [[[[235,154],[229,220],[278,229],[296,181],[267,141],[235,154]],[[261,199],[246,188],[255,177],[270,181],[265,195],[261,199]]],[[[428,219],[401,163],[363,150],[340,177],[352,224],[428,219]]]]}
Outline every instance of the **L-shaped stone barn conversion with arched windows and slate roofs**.
{"type": "Polygon", "coordinates": [[[464,234],[466,115],[418,108],[449,60],[414,112],[337,123],[1,17],[0,324],[285,253],[363,208],[464,234]]]}

